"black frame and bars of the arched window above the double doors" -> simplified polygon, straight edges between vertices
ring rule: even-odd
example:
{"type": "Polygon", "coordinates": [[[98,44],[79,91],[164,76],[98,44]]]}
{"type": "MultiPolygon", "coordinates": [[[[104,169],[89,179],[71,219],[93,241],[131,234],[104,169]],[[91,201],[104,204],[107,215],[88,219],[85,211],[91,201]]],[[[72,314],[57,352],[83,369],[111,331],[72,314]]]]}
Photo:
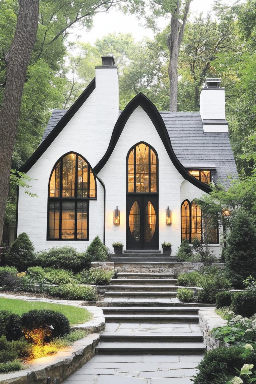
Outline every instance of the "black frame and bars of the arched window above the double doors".
{"type": "Polygon", "coordinates": [[[132,146],[128,153],[127,153],[127,156],[126,156],[126,193],[128,195],[130,194],[144,194],[144,195],[147,195],[147,194],[155,194],[155,195],[158,195],[159,194],[159,187],[158,187],[158,180],[159,180],[159,172],[158,172],[158,154],[157,154],[157,151],[154,149],[154,147],[152,147],[150,144],[146,143],[145,141],[140,141],[136,144],[134,144],[134,146],[132,146]],[[149,147],[149,192],[136,192],[136,147],[140,144],[145,144],[146,146],[149,147]],[[130,152],[134,151],[134,191],[133,192],[129,192],[129,156],[130,156],[130,152]],[[151,163],[150,163],[150,151],[153,151],[154,154],[155,154],[155,158],[156,158],[156,172],[157,172],[157,190],[156,192],[151,192],[150,191],[150,187],[151,187],[151,163]]]}

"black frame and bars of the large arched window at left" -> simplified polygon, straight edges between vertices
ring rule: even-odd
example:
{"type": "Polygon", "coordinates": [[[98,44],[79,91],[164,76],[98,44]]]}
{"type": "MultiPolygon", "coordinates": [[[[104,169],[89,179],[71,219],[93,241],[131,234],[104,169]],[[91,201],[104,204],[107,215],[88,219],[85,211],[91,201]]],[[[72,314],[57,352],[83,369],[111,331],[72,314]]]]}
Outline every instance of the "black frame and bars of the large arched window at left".
{"type": "Polygon", "coordinates": [[[70,241],[88,241],[89,240],[89,202],[90,200],[97,200],[97,182],[96,182],[96,177],[94,172],[92,171],[92,167],[89,164],[89,162],[85,159],[84,156],[77,152],[67,152],[63,156],[61,156],[58,161],[56,161],[55,165],[53,166],[53,169],[51,170],[49,182],[48,182],[48,202],[47,202],[47,229],[46,229],[46,240],[48,241],[63,241],[63,242],[70,242],[70,241]],[[74,192],[74,197],[63,197],[62,196],[62,191],[63,191],[63,158],[69,154],[74,154],[76,156],[76,168],[75,168],[75,192],[74,192]],[[78,197],[78,156],[81,157],[88,165],[88,190],[87,190],[87,197],[78,197]],[[50,182],[51,182],[51,177],[52,174],[56,168],[56,166],[60,163],[60,181],[59,181],[59,196],[58,197],[53,197],[50,196],[50,182]],[[91,171],[91,172],[90,172],[91,171]],[[94,177],[94,182],[95,182],[95,197],[90,197],[90,174],[92,173],[94,177]],[[50,232],[50,203],[51,202],[59,202],[59,238],[51,238],[49,236],[50,232]],[[63,202],[74,202],[74,238],[73,239],[64,239],[62,238],[62,205],[63,202]],[[87,237],[86,238],[77,238],[77,207],[79,202],[87,202],[87,237]]]}

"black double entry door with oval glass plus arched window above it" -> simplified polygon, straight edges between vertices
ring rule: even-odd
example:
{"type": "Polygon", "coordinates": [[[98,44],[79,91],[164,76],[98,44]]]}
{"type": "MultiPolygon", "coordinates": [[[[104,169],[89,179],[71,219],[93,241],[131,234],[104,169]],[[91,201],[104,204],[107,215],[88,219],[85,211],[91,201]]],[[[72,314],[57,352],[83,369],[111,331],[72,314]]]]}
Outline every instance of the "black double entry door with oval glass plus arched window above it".
{"type": "Polygon", "coordinates": [[[158,249],[158,161],[141,142],[127,155],[126,248],[158,249]]]}

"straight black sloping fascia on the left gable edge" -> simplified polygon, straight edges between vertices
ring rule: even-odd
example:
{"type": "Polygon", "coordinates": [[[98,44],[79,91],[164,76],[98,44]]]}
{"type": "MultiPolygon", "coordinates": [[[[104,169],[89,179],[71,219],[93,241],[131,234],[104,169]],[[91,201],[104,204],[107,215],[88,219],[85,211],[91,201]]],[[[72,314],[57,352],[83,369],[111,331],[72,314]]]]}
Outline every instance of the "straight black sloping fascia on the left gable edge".
{"type": "Polygon", "coordinates": [[[83,93],[79,96],[79,98],[74,102],[74,104],[68,109],[68,111],[64,114],[64,116],[59,120],[58,124],[53,128],[53,130],[48,134],[45,140],[40,144],[40,146],[36,149],[32,156],[28,159],[28,161],[20,167],[20,172],[28,172],[30,168],[38,161],[38,159],[42,156],[42,154],[46,151],[46,149],[51,145],[51,143],[56,139],[58,134],[63,130],[63,128],[68,124],[68,122],[73,118],[74,114],[78,111],[78,109],[83,105],[83,103],[88,99],[92,91],[94,91],[96,86],[95,78],[91,81],[91,83],[84,89],[83,93]]]}

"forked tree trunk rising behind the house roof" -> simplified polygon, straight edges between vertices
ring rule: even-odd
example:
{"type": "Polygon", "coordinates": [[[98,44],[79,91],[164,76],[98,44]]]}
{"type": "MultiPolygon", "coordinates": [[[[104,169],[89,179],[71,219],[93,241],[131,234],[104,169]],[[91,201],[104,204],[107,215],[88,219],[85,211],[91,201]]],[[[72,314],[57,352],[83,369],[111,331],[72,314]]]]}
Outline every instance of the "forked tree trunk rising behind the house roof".
{"type": "Polygon", "coordinates": [[[180,44],[184,35],[185,23],[187,21],[188,11],[192,0],[188,0],[185,6],[182,24],[179,22],[180,0],[176,0],[176,7],[171,17],[171,33],[167,38],[167,46],[170,52],[170,61],[168,66],[170,82],[170,111],[178,110],[178,56],[180,44]]]}

